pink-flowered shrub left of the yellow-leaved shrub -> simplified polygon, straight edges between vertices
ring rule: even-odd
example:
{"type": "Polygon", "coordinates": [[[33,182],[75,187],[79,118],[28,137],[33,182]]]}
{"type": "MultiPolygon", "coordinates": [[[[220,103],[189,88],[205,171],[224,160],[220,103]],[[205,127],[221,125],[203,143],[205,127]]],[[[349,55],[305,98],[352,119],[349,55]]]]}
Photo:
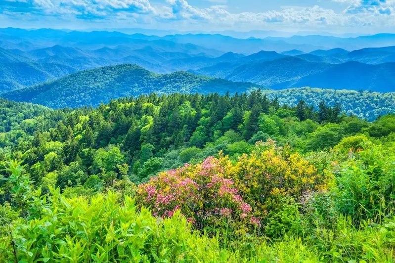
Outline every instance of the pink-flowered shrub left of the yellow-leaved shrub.
{"type": "Polygon", "coordinates": [[[139,186],[137,202],[154,216],[172,217],[177,210],[199,228],[223,220],[260,224],[252,208],[238,194],[232,179],[223,175],[227,158],[207,158],[203,163],[161,173],[139,186]]]}

